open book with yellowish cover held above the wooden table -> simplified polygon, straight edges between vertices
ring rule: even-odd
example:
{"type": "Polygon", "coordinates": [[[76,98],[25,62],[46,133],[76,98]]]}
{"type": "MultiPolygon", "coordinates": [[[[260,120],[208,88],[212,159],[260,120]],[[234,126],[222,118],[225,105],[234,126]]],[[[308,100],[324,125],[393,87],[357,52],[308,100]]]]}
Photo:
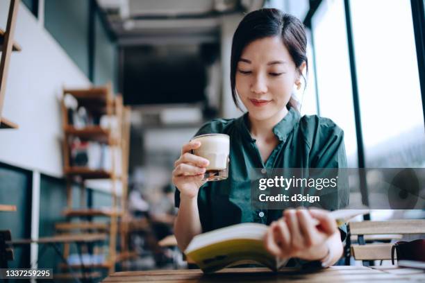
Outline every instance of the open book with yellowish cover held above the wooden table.
{"type": "MultiPolygon", "coordinates": [[[[341,209],[331,212],[331,216],[342,225],[354,216],[367,213],[369,209],[341,209]]],[[[242,223],[199,234],[192,239],[185,255],[204,273],[240,264],[260,264],[277,271],[288,259],[279,259],[265,250],[263,237],[267,228],[260,223],[242,223]]]]}

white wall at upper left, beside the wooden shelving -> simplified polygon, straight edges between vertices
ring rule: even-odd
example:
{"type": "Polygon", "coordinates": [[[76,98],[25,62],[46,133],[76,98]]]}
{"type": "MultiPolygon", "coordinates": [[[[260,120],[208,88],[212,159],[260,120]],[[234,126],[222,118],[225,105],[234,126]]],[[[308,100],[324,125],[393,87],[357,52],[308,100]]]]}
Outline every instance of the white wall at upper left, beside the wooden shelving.
{"type": "MultiPolygon", "coordinates": [[[[0,27],[6,29],[8,0],[0,1],[0,27]]],[[[0,130],[0,162],[47,175],[63,175],[60,97],[63,85],[88,87],[90,81],[39,24],[23,3],[19,6],[3,117],[18,130],[0,130]]]]}

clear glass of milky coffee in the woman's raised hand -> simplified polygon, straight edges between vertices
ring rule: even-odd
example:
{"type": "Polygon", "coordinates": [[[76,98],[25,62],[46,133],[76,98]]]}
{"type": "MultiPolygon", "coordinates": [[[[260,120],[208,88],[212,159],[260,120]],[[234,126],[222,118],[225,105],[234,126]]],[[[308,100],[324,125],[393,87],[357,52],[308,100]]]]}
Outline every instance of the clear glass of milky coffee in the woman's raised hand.
{"type": "Polygon", "coordinates": [[[206,167],[206,172],[203,174],[203,180],[218,181],[227,179],[230,137],[225,134],[207,134],[194,137],[192,141],[201,142],[201,146],[192,150],[192,153],[206,158],[210,162],[206,167]]]}

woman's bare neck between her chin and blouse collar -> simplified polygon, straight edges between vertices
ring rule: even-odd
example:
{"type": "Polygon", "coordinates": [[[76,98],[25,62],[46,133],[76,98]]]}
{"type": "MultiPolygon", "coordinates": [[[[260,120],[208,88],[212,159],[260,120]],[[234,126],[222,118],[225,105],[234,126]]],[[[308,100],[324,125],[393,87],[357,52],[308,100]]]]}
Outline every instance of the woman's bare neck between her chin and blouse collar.
{"type": "Polygon", "coordinates": [[[251,115],[248,113],[250,132],[254,139],[274,139],[273,128],[279,123],[286,115],[288,114],[288,109],[285,107],[280,112],[276,113],[276,115],[270,117],[265,120],[257,120],[253,119],[251,115]]]}

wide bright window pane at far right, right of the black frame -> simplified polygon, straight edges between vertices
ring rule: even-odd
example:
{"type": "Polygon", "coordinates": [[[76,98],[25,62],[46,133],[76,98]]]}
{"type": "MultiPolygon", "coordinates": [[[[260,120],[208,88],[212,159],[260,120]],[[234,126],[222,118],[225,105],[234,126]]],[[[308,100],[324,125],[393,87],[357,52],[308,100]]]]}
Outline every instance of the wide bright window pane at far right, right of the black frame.
{"type": "Polygon", "coordinates": [[[350,1],[367,167],[425,166],[410,1],[350,1]]]}

